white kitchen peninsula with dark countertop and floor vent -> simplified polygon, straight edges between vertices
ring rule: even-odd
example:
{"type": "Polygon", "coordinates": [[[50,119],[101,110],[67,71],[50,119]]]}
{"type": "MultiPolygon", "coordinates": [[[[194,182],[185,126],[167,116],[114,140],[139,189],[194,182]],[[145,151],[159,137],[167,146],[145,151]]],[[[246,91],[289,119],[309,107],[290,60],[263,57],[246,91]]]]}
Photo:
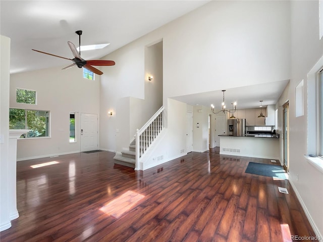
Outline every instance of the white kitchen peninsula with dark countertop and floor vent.
{"type": "Polygon", "coordinates": [[[220,154],[280,160],[279,137],[272,134],[219,135],[220,154]]]}

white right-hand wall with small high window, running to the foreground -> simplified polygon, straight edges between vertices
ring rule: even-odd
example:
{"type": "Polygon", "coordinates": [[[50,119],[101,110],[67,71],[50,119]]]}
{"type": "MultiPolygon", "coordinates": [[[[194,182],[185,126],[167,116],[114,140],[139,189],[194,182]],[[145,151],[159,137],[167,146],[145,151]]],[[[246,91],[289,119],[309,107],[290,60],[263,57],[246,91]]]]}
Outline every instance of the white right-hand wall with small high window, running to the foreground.
{"type": "MultiPolygon", "coordinates": [[[[307,74],[323,55],[319,39],[318,1],[291,1],[290,182],[314,225],[323,234],[323,173],[309,164],[307,154],[307,74]],[[304,115],[295,117],[295,87],[304,79],[304,115]],[[298,181],[296,179],[298,175],[298,181]]],[[[285,97],[283,99],[286,99],[285,97]]],[[[281,100],[281,103],[284,100],[281,100]]],[[[309,119],[315,117],[309,117],[309,119]]]]}

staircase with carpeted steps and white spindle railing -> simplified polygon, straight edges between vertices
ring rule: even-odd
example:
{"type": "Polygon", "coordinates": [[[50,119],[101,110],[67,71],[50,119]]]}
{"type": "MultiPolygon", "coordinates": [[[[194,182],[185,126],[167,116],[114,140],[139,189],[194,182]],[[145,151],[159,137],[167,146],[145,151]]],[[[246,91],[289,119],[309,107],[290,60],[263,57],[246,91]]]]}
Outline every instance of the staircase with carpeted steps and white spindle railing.
{"type": "Polygon", "coordinates": [[[115,164],[138,169],[139,160],[151,146],[164,128],[164,107],[161,107],[140,130],[137,129],[135,139],[130,143],[129,151],[122,151],[113,158],[115,164]]]}

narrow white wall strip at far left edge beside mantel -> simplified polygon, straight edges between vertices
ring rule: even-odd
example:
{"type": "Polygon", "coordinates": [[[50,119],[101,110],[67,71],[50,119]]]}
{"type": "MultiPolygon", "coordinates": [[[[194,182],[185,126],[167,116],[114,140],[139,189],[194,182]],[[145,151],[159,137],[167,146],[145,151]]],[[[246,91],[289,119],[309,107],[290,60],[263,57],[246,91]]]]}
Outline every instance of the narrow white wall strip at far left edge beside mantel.
{"type": "Polygon", "coordinates": [[[0,35],[0,231],[10,228],[9,216],[9,84],[10,38],[0,35]]]}

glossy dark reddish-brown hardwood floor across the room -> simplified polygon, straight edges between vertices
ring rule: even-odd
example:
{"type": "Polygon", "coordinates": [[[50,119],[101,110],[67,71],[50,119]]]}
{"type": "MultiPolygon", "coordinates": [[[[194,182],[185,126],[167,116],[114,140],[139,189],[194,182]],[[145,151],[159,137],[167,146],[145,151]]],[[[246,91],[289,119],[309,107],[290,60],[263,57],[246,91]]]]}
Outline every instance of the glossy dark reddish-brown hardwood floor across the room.
{"type": "Polygon", "coordinates": [[[1,241],[277,242],[290,241],[284,240],[289,232],[315,236],[287,180],[245,173],[248,162],[270,160],[192,152],[134,171],[114,165],[114,155],[18,162],[20,217],[0,233],[1,241]],[[51,161],[58,163],[31,167],[51,161]]]}

